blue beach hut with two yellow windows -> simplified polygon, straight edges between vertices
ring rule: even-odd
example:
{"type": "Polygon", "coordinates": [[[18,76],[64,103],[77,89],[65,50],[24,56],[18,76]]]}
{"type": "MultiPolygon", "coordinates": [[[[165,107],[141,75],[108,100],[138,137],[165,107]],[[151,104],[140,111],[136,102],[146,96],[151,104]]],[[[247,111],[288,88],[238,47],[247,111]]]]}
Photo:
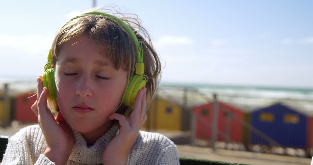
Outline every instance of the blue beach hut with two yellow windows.
{"type": "MultiPolygon", "coordinates": [[[[251,125],[275,140],[282,147],[307,148],[312,142],[312,131],[309,130],[313,119],[297,109],[282,103],[275,103],[251,113],[251,125]],[[307,139],[309,138],[310,139],[307,139]]],[[[263,138],[251,133],[252,144],[269,145],[263,138]]]]}

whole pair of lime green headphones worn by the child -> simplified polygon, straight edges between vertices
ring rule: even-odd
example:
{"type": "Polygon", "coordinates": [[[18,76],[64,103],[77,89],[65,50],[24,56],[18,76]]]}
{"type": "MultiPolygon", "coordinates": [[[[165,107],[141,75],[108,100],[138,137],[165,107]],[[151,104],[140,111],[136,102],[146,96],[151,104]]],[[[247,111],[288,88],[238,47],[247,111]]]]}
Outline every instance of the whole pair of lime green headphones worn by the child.
{"type": "MultiPolygon", "coordinates": [[[[124,105],[129,106],[131,107],[131,109],[133,109],[138,91],[141,88],[145,87],[146,82],[148,82],[148,77],[145,74],[143,74],[145,64],[143,63],[142,42],[138,41],[136,34],[125,22],[123,22],[121,19],[115,16],[112,16],[103,12],[87,12],[80,16],[74,17],[69,21],[72,21],[76,18],[83,17],[86,15],[102,15],[104,17],[109,18],[110,20],[119,24],[130,35],[131,39],[134,42],[134,45],[136,47],[136,52],[137,52],[136,74],[129,78],[128,87],[127,89],[124,90],[124,93],[126,92],[126,94],[123,100],[124,105]]],[[[44,66],[43,84],[44,84],[44,87],[48,88],[48,91],[49,91],[47,98],[49,97],[53,101],[56,101],[57,94],[56,94],[56,85],[55,85],[55,80],[54,80],[54,68],[48,69],[49,64],[51,63],[53,63],[53,57],[51,55],[51,49],[50,49],[49,54],[48,54],[48,62],[44,66]]]]}

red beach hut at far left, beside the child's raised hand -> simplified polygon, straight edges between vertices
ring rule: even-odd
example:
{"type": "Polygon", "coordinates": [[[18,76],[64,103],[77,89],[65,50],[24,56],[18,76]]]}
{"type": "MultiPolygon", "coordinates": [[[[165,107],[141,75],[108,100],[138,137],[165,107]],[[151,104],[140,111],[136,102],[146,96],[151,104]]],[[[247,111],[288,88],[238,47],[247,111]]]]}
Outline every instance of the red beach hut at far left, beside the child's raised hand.
{"type": "Polygon", "coordinates": [[[31,106],[37,97],[29,92],[20,94],[15,98],[14,119],[23,123],[37,123],[37,116],[33,113],[31,106]]]}

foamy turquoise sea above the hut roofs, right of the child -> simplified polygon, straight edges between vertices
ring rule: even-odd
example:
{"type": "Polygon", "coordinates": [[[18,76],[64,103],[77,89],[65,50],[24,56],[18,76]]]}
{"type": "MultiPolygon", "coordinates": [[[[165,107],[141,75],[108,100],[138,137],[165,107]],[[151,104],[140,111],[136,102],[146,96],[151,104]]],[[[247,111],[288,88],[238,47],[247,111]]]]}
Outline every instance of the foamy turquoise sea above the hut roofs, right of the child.
{"type": "Polygon", "coordinates": [[[247,85],[160,83],[158,95],[179,105],[192,108],[217,100],[251,112],[276,103],[313,116],[313,89],[262,87],[247,85]]]}

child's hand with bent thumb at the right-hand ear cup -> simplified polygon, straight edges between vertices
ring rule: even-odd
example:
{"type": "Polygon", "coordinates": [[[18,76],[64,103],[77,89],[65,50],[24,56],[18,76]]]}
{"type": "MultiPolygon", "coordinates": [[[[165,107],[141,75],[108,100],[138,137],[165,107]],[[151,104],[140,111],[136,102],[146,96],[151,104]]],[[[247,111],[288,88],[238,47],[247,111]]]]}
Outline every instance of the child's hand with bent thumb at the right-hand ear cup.
{"type": "Polygon", "coordinates": [[[146,91],[147,88],[139,90],[128,121],[124,115],[118,113],[109,116],[110,120],[119,121],[120,130],[103,152],[104,164],[126,164],[128,153],[135,143],[139,130],[147,120],[146,91]]]}

